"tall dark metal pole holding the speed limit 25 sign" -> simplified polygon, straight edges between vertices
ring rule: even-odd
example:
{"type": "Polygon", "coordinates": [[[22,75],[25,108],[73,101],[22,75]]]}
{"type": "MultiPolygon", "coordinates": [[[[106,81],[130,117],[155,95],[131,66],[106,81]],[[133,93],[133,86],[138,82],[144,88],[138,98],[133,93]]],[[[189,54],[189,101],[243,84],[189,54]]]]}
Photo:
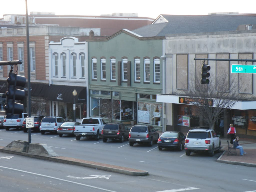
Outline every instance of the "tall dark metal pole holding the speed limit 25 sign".
{"type": "MultiPolygon", "coordinates": [[[[28,117],[31,117],[30,110],[30,54],[29,54],[29,32],[28,32],[28,2],[26,1],[26,33],[27,33],[27,66],[28,66],[28,117]]],[[[28,128],[28,143],[31,143],[31,128],[28,128]]]]}

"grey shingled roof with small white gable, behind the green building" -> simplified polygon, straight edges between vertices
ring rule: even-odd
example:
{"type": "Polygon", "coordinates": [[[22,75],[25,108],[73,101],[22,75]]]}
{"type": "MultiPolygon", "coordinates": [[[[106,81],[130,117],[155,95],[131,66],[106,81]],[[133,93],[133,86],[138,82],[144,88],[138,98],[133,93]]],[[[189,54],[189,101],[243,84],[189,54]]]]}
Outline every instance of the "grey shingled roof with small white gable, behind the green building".
{"type": "Polygon", "coordinates": [[[239,25],[256,24],[256,16],[160,15],[150,25],[133,30],[143,37],[167,34],[235,31],[239,25]]]}

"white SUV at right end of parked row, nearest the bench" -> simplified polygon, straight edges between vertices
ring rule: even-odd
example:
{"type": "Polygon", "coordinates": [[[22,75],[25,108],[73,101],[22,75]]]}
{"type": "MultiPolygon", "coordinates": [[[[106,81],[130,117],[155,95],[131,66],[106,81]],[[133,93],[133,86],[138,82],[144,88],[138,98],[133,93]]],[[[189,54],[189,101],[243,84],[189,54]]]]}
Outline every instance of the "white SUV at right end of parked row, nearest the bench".
{"type": "Polygon", "coordinates": [[[214,156],[214,152],[220,152],[220,138],[212,129],[194,128],[188,131],[185,139],[186,155],[191,152],[204,151],[210,156],[214,156]]]}

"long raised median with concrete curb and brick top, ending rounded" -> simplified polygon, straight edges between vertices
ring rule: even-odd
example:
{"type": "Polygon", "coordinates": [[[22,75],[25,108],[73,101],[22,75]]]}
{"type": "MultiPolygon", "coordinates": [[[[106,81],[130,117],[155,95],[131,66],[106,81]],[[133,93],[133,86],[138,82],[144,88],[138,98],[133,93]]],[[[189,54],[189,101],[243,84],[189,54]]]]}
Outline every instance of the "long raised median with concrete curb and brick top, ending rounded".
{"type": "Polygon", "coordinates": [[[26,153],[26,152],[20,152],[20,151],[14,151],[14,150],[8,150],[4,149],[0,146],[0,151],[5,153],[12,153],[16,155],[23,155],[27,157],[32,158],[38,158],[38,159],[44,159],[48,161],[54,161],[59,163],[67,163],[71,165],[78,165],[83,167],[89,167],[114,173],[121,173],[125,175],[131,175],[131,176],[145,176],[148,175],[148,171],[139,170],[139,169],[132,169],[128,167],[121,167],[121,166],[115,166],[110,164],[103,164],[103,163],[97,163],[92,161],[86,161],[82,159],[76,159],[76,158],[69,158],[69,157],[63,157],[63,156],[57,156],[57,157],[49,157],[44,155],[36,155],[32,153],[26,153]]]}

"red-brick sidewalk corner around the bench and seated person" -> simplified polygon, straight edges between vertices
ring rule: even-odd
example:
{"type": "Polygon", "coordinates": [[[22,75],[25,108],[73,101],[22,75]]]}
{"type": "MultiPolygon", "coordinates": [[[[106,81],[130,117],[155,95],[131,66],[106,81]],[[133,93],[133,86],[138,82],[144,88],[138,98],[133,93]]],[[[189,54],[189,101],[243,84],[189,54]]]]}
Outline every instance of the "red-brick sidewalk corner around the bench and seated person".
{"type": "Polygon", "coordinates": [[[256,167],[256,140],[240,138],[239,145],[243,146],[244,151],[247,153],[240,156],[239,149],[236,150],[236,154],[228,155],[228,143],[229,138],[221,139],[222,155],[217,159],[217,162],[228,163],[233,165],[244,165],[250,167],[256,167]]]}

